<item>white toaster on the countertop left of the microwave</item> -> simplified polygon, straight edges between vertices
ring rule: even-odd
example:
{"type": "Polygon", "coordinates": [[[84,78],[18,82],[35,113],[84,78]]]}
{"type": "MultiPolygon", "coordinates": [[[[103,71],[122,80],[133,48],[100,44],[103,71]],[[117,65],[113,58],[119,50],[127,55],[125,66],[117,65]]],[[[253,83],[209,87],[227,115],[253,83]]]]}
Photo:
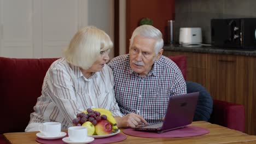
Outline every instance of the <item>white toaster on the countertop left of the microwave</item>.
{"type": "Polygon", "coordinates": [[[201,46],[202,29],[200,27],[179,28],[179,44],[185,47],[201,46]]]}

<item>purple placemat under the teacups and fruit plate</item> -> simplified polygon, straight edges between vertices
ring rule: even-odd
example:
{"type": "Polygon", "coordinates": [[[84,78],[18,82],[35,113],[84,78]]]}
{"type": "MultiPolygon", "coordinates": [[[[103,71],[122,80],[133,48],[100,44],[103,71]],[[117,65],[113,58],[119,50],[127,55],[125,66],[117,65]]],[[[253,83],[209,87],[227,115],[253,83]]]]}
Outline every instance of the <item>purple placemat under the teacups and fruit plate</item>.
{"type": "MultiPolygon", "coordinates": [[[[65,136],[67,137],[67,136],[65,136]]],[[[40,139],[39,137],[36,138],[36,141],[39,143],[44,143],[44,144],[65,144],[65,142],[62,141],[64,137],[62,137],[61,139],[56,139],[56,140],[45,140],[45,139],[40,139]]],[[[127,138],[126,135],[124,134],[116,134],[114,136],[110,136],[110,137],[104,137],[104,138],[97,138],[94,139],[94,141],[91,142],[91,144],[95,144],[95,143],[111,143],[111,142],[119,142],[119,141],[123,141],[127,138]]]]}

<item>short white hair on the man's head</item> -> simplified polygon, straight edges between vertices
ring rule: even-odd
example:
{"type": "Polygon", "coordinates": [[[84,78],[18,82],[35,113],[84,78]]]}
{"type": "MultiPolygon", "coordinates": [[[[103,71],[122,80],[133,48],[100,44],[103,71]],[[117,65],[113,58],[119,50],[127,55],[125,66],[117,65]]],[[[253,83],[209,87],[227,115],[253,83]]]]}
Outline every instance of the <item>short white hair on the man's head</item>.
{"type": "Polygon", "coordinates": [[[155,43],[155,53],[158,54],[158,51],[160,49],[162,49],[162,47],[164,46],[164,40],[162,39],[162,33],[159,31],[159,29],[150,26],[150,25],[142,25],[137,27],[133,33],[132,33],[132,37],[130,40],[130,49],[131,49],[131,45],[133,43],[133,39],[135,38],[136,35],[139,35],[141,37],[144,38],[152,38],[156,40],[155,43]]]}

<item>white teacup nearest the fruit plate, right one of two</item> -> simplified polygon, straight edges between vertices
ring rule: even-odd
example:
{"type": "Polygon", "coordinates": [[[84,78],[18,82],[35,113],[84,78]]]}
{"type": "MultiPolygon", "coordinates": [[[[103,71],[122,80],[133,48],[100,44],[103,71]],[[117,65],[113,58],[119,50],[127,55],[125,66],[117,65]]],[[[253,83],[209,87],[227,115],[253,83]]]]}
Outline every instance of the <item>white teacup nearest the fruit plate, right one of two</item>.
{"type": "Polygon", "coordinates": [[[86,127],[69,127],[68,128],[68,137],[71,141],[85,141],[87,136],[87,128],[86,127]]]}

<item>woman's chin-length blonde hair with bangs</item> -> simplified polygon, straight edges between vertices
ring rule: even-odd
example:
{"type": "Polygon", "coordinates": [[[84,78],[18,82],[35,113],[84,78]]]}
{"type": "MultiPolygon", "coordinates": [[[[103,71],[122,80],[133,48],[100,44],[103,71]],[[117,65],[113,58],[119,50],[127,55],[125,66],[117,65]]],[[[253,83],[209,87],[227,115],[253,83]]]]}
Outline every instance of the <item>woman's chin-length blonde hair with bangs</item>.
{"type": "Polygon", "coordinates": [[[63,55],[68,63],[89,69],[100,56],[101,51],[112,47],[113,43],[104,31],[94,26],[87,26],[74,35],[63,55]]]}

